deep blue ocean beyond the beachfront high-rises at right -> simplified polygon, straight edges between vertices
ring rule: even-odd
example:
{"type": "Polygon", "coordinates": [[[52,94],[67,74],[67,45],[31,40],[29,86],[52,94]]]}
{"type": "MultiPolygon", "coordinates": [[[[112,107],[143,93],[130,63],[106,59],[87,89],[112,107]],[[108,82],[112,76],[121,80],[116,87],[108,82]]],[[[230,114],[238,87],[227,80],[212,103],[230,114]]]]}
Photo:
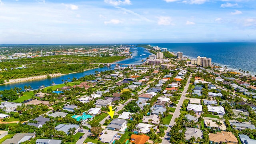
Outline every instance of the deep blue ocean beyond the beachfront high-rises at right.
{"type": "Polygon", "coordinates": [[[228,69],[244,70],[256,74],[256,42],[222,43],[168,43],[150,44],[167,48],[170,52],[183,52],[189,58],[197,56],[212,58],[212,63],[228,69]]]}

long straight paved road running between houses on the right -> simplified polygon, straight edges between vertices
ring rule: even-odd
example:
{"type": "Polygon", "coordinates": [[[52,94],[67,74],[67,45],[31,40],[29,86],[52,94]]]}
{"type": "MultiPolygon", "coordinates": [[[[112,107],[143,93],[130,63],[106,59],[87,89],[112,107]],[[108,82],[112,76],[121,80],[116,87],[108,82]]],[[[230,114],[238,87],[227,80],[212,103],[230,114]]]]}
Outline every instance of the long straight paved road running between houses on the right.
{"type": "MultiPolygon", "coordinates": [[[[190,74],[190,76],[189,76],[189,78],[188,78],[188,82],[187,82],[187,84],[186,84],[186,86],[185,86],[185,88],[184,88],[184,90],[183,90],[183,92],[182,92],[182,95],[181,95],[180,100],[179,100],[179,102],[178,102],[177,108],[175,109],[175,112],[174,112],[174,114],[173,114],[173,116],[172,116],[172,120],[170,121],[169,126],[173,126],[173,125],[175,124],[174,120],[175,120],[175,118],[178,118],[178,117],[180,116],[180,108],[181,108],[181,106],[182,106],[182,104],[183,104],[183,101],[184,101],[185,99],[188,99],[188,98],[186,98],[186,91],[188,90],[188,86],[189,86],[190,78],[191,78],[191,77],[192,77],[192,74],[190,74]]],[[[170,144],[170,140],[169,140],[170,137],[168,136],[168,134],[169,134],[171,128],[170,128],[169,126],[168,126],[168,128],[167,128],[167,130],[166,130],[166,134],[165,134],[164,137],[162,138],[162,139],[163,139],[163,140],[162,140],[162,144],[170,144]]]]}

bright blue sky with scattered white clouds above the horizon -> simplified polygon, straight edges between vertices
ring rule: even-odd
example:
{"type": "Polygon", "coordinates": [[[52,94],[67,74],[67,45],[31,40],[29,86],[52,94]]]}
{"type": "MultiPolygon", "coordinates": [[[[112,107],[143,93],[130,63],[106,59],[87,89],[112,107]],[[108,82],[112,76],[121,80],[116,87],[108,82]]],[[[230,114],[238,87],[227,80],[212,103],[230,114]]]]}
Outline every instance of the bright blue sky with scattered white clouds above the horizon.
{"type": "Polygon", "coordinates": [[[256,41],[255,0],[0,0],[0,44],[256,41]]]}

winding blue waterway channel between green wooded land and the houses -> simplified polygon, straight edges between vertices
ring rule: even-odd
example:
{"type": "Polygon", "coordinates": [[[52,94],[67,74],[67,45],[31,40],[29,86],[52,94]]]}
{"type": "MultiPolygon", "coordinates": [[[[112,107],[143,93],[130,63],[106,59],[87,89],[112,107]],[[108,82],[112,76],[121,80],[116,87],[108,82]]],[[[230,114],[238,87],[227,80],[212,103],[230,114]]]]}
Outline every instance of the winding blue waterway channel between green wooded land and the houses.
{"type": "MultiPolygon", "coordinates": [[[[116,64],[142,64],[142,60],[146,60],[146,58],[151,54],[148,50],[146,50],[145,48],[141,48],[141,47],[131,47],[130,48],[130,52],[132,52],[132,58],[127,58],[125,60],[121,60],[119,62],[116,62],[116,64]],[[143,55],[144,54],[144,55],[143,55]]],[[[52,77],[52,78],[46,78],[46,79],[38,79],[38,80],[30,80],[30,81],[23,81],[23,82],[15,82],[15,83],[10,83],[10,84],[3,84],[0,85],[0,90],[5,90],[5,89],[10,89],[10,88],[14,88],[19,87],[19,88],[24,88],[24,86],[31,86],[31,88],[33,90],[38,89],[39,86],[50,86],[52,84],[52,82],[54,82],[55,84],[62,84],[62,80],[68,80],[68,78],[70,78],[70,80],[75,77],[75,78],[81,78],[84,77],[86,75],[90,75],[90,74],[95,74],[95,71],[98,72],[103,72],[106,70],[113,70],[114,67],[116,65],[112,65],[110,67],[103,67],[103,68],[95,68],[92,70],[87,70],[84,72],[78,72],[78,73],[72,73],[72,74],[66,74],[66,75],[62,75],[62,76],[56,76],[56,77],[52,77]]]]}

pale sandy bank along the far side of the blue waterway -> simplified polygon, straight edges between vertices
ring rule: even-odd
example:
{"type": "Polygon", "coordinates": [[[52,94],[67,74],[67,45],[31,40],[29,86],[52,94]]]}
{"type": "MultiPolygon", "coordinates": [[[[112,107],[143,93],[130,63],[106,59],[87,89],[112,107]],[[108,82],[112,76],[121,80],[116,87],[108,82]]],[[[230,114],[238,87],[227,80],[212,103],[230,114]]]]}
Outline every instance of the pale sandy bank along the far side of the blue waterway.
{"type": "MultiPolygon", "coordinates": [[[[99,67],[95,67],[95,68],[99,68],[99,67]]],[[[92,70],[95,68],[88,68],[87,70],[92,70]]],[[[68,74],[74,74],[74,73],[78,73],[78,72],[70,72],[68,74]]],[[[16,78],[16,79],[10,79],[9,82],[6,82],[6,80],[4,80],[4,84],[12,84],[12,83],[17,83],[17,82],[26,82],[26,81],[32,81],[32,80],[39,80],[39,79],[46,79],[47,76],[50,77],[58,77],[58,76],[63,76],[63,75],[67,75],[67,74],[61,74],[61,73],[57,73],[57,74],[45,74],[45,75],[40,75],[40,76],[31,76],[31,77],[27,77],[27,78],[16,78]]],[[[4,84],[0,84],[0,85],[4,85],[4,84]]]]}

